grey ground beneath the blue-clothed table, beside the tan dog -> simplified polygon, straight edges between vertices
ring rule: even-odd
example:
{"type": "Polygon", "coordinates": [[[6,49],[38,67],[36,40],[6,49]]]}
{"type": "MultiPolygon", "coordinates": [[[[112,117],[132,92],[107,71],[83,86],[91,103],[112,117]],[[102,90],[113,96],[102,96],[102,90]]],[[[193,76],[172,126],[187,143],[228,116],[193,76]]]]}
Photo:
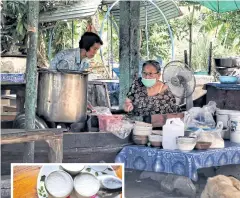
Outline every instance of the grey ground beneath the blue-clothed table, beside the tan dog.
{"type": "MultiPolygon", "coordinates": [[[[200,169],[198,171],[197,182],[183,180],[182,183],[184,183],[184,185],[181,185],[181,182],[178,182],[178,185],[180,184],[180,188],[173,192],[166,192],[166,188],[162,188],[162,181],[164,177],[161,173],[149,174],[149,172],[144,173],[143,171],[125,169],[125,198],[200,198],[207,183],[207,178],[214,177],[216,175],[233,176],[240,180],[240,165],[226,165],[222,167],[200,169]],[[191,190],[189,191],[190,188],[186,188],[188,185],[187,182],[188,184],[189,182],[194,184],[196,190],[195,193],[193,193],[194,196],[186,195],[191,194],[191,190]]],[[[171,180],[169,181],[168,184],[171,186],[173,182],[171,183],[171,180]]]]}

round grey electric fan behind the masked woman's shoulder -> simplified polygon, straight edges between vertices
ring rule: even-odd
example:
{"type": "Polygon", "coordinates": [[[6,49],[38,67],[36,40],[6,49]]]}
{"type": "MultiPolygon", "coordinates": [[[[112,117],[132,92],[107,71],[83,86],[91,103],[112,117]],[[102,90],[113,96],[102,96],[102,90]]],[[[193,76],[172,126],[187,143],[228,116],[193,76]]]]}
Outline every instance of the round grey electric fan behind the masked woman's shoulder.
{"type": "Polygon", "coordinates": [[[188,65],[181,61],[169,62],[163,70],[163,81],[175,97],[184,101],[186,99],[187,110],[193,107],[192,94],[196,87],[196,79],[188,65]]]}

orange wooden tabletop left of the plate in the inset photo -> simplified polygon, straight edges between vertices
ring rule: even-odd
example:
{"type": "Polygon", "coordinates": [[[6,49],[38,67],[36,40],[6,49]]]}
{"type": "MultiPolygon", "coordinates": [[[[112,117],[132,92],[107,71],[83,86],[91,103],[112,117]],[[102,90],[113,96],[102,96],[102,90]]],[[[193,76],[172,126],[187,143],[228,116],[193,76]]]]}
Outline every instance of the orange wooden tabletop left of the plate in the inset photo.
{"type": "Polygon", "coordinates": [[[37,198],[37,177],[42,166],[14,166],[13,197],[37,198]]]}

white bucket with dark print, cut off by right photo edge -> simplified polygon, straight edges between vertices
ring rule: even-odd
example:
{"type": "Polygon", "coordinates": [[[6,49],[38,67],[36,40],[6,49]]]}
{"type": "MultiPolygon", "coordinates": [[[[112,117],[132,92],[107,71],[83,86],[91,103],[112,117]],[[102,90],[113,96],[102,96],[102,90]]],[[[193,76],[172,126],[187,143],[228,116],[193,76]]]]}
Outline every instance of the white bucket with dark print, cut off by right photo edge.
{"type": "Polygon", "coordinates": [[[240,114],[230,115],[229,127],[231,142],[240,143],[240,114]]]}

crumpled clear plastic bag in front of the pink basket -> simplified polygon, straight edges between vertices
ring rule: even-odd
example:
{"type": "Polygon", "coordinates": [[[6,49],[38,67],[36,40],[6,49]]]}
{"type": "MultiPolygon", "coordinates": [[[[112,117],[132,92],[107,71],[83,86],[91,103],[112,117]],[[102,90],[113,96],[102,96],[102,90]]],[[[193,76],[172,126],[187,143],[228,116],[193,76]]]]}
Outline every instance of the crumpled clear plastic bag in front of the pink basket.
{"type": "Polygon", "coordinates": [[[121,120],[107,125],[106,130],[107,132],[111,132],[121,139],[125,139],[130,135],[133,126],[134,124],[129,121],[121,120]]]}

